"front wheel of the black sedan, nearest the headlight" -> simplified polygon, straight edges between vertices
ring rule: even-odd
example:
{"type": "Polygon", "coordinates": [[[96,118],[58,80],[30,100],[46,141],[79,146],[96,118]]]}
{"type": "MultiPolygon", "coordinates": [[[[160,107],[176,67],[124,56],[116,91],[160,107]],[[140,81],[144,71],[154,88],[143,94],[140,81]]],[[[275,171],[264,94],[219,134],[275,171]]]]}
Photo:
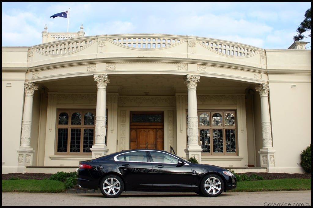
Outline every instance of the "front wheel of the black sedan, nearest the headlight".
{"type": "Polygon", "coordinates": [[[222,178],[215,174],[204,177],[200,186],[202,194],[208,197],[219,196],[224,190],[222,178]]]}

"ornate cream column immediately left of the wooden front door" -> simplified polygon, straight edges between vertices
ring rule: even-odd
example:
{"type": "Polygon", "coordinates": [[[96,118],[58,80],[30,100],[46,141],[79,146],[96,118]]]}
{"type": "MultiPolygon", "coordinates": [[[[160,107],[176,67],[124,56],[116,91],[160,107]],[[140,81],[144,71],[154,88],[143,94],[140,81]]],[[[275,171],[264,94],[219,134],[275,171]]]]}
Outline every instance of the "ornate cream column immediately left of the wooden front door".
{"type": "Polygon", "coordinates": [[[107,74],[94,75],[94,80],[97,82],[97,106],[96,106],[96,120],[95,120],[95,144],[90,149],[92,152],[92,159],[104,156],[109,149],[105,145],[105,93],[106,85],[110,83],[107,74]]]}

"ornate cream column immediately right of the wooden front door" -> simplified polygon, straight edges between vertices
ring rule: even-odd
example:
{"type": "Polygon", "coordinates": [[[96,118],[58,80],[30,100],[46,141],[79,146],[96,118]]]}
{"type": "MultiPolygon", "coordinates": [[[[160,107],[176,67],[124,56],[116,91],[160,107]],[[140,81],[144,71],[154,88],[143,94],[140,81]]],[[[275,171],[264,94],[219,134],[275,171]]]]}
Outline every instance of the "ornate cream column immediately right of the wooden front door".
{"type": "Polygon", "coordinates": [[[200,80],[200,75],[187,75],[185,84],[188,89],[188,107],[187,107],[187,148],[186,159],[195,157],[201,163],[202,148],[199,145],[199,129],[198,129],[198,106],[197,106],[197,82],[200,80]]]}

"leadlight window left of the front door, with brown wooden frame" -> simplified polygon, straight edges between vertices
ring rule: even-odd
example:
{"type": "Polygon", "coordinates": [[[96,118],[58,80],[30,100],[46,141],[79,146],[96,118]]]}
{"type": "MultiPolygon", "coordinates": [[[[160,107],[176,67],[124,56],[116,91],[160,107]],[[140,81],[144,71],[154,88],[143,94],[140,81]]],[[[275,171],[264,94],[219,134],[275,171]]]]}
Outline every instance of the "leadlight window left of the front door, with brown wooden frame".
{"type": "Polygon", "coordinates": [[[95,139],[95,110],[59,109],[56,154],[91,154],[95,139]]]}

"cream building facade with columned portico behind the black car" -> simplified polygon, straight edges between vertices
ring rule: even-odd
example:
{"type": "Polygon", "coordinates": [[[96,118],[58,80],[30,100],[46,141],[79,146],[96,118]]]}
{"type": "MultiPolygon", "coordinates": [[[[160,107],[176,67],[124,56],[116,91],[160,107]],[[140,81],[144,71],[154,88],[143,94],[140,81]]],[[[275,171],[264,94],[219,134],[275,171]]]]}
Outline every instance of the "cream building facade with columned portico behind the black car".
{"type": "Polygon", "coordinates": [[[2,173],[155,148],[235,172],[303,173],[311,50],[198,36],[54,33],[2,47],[2,173]]]}

